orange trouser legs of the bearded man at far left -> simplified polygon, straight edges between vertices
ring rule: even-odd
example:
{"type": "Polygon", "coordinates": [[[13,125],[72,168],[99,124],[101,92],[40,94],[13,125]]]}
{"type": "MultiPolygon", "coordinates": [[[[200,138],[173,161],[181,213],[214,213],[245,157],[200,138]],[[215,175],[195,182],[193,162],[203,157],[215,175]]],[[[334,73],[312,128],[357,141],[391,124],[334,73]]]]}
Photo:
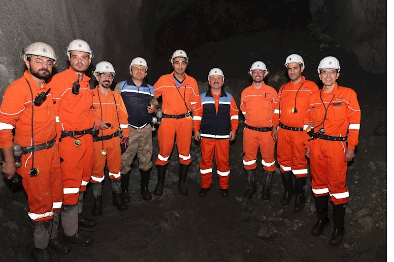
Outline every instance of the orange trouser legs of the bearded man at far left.
{"type": "Polygon", "coordinates": [[[22,184],[28,195],[29,217],[36,222],[48,221],[53,211],[59,212],[63,202],[63,179],[60,169],[58,146],[34,152],[34,167],[39,170],[31,177],[31,154],[22,155],[22,167],[17,173],[22,175],[22,184]],[[26,162],[27,161],[27,162],[26,162]]]}

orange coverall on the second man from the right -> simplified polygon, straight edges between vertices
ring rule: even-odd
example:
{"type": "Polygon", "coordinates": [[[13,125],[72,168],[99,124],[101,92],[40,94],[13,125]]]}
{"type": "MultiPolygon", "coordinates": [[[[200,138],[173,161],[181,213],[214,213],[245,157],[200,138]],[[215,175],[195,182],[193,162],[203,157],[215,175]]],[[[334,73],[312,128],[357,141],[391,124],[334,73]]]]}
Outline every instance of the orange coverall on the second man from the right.
{"type": "MultiPolygon", "coordinates": [[[[277,127],[280,122],[285,126],[302,130],[309,97],[317,90],[319,87],[314,82],[305,80],[305,77],[302,77],[296,85],[290,81],[280,87],[278,100],[275,103],[273,125],[277,127]],[[292,113],[293,108],[297,109],[297,113],[292,113]]],[[[279,127],[276,155],[282,173],[292,171],[296,177],[308,175],[302,131],[279,127]]]]}

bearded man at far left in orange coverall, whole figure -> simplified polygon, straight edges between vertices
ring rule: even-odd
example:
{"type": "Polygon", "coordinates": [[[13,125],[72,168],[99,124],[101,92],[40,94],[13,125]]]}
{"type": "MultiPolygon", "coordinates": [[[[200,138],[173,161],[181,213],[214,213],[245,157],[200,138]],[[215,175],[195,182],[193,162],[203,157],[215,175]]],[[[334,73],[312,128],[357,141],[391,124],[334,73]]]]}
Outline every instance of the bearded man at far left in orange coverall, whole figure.
{"type": "Polygon", "coordinates": [[[49,262],[52,260],[48,245],[60,252],[70,251],[70,247],[57,237],[63,180],[58,145],[55,144],[55,110],[51,90],[45,84],[58,58],[52,47],[42,42],[29,45],[22,58],[27,70],[23,77],[7,87],[0,107],[0,148],[4,156],[1,171],[7,179],[15,172],[23,177],[33,229],[32,256],[37,262],[49,262]],[[22,166],[18,169],[13,139],[22,147],[22,166]]]}

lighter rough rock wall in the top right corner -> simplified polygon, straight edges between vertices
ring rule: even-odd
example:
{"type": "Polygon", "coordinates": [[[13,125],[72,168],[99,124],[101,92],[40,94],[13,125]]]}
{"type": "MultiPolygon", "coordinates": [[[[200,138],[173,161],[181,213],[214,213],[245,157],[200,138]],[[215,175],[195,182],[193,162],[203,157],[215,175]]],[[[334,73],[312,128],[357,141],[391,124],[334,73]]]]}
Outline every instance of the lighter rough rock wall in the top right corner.
{"type": "Polygon", "coordinates": [[[340,44],[353,52],[364,70],[386,73],[385,0],[310,0],[309,9],[311,28],[325,44],[340,44]]]}

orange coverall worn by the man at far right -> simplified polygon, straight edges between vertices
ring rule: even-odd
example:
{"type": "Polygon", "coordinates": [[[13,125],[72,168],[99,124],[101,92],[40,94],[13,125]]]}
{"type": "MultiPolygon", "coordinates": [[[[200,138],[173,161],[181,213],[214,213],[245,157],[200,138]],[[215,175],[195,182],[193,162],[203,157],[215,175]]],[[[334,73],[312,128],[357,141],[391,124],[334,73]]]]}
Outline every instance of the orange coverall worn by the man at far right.
{"type": "Polygon", "coordinates": [[[312,192],[316,197],[329,193],[334,204],[346,204],[349,199],[349,190],[345,187],[347,162],[345,162],[346,149],[355,149],[359,144],[361,111],[357,101],[356,92],[348,87],[335,87],[330,93],[324,88],[314,92],[309,98],[309,107],[304,116],[304,144],[310,147],[310,168],[312,176],[312,192]],[[345,137],[348,134],[347,144],[344,141],[328,141],[315,139],[308,141],[310,136],[306,128],[310,120],[314,121],[317,133],[323,127],[325,108],[327,118],[324,122],[324,135],[345,137]],[[332,99],[332,101],[331,101],[332,99]],[[331,101],[331,103],[330,103],[331,101]],[[329,105],[329,106],[328,106],[329,105]]]}

